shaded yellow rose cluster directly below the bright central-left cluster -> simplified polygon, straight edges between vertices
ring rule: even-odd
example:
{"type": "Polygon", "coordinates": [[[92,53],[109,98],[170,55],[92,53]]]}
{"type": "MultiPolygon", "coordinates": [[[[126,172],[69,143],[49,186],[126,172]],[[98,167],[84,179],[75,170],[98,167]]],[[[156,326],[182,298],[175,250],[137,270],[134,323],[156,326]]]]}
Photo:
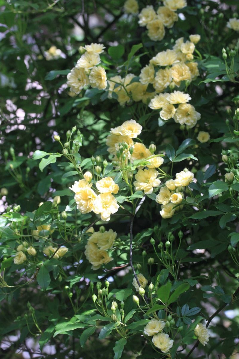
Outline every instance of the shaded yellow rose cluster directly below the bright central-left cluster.
{"type": "Polygon", "coordinates": [[[112,229],[105,230],[103,233],[92,233],[85,246],[85,256],[92,264],[93,270],[99,269],[102,264],[107,264],[113,259],[106,251],[113,247],[116,237],[117,234],[112,229]]]}

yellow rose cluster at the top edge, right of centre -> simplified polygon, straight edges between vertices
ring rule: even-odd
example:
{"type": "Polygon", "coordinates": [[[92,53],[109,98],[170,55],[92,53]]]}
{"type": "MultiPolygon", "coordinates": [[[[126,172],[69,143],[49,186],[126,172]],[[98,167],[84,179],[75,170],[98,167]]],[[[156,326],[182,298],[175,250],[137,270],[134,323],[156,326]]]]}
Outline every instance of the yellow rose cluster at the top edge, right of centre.
{"type": "Polygon", "coordinates": [[[176,11],[187,5],[186,0],[165,0],[164,6],[159,6],[157,11],[153,5],[147,5],[139,13],[139,26],[146,26],[148,36],[152,41],[161,41],[165,35],[165,27],[170,29],[178,21],[176,11]]]}

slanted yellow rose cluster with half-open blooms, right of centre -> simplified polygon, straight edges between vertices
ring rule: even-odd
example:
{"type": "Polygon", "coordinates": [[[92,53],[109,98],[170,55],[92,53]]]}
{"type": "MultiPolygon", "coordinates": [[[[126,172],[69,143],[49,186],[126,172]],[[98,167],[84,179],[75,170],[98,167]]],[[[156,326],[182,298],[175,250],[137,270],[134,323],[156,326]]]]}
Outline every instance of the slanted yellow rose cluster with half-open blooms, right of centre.
{"type": "Polygon", "coordinates": [[[162,218],[171,218],[184,197],[183,190],[193,180],[194,174],[185,168],[183,171],[176,173],[175,180],[168,180],[165,186],[160,188],[156,196],[156,202],[162,204],[160,214],[162,218]]]}

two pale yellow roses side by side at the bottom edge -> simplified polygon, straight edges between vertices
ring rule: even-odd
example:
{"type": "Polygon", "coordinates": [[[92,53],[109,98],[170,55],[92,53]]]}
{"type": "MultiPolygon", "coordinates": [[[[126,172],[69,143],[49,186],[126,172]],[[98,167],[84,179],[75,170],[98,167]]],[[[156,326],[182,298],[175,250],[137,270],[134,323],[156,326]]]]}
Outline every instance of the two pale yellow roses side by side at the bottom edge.
{"type": "Polygon", "coordinates": [[[169,349],[173,346],[173,340],[169,338],[169,335],[163,333],[163,328],[165,327],[165,322],[158,319],[152,319],[148,322],[144,328],[144,334],[148,336],[153,336],[152,342],[162,351],[162,353],[168,353],[169,349]]]}

